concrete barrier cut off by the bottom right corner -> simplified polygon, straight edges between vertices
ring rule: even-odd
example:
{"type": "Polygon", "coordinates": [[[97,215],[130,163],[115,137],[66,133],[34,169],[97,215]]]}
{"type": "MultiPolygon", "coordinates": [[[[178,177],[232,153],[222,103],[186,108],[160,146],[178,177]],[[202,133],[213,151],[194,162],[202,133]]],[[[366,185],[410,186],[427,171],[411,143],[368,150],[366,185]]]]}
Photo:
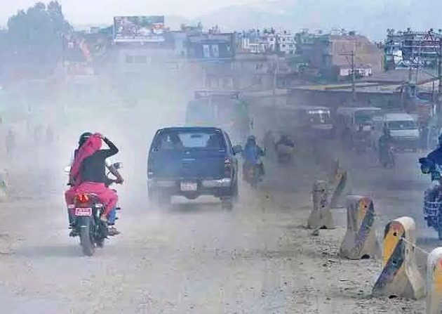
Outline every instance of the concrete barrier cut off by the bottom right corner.
{"type": "Polygon", "coordinates": [[[442,247],[436,247],[428,256],[426,313],[442,313],[442,247]]]}

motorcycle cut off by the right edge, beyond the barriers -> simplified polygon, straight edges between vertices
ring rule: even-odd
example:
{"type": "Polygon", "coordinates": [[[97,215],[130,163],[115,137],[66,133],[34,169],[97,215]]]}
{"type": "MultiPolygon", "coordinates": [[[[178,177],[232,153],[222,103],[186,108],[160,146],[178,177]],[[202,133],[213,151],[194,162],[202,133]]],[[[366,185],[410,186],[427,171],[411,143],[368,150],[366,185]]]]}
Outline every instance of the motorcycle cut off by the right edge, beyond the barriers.
{"type": "Polygon", "coordinates": [[[436,186],[424,192],[424,220],[429,228],[437,231],[439,240],[442,240],[441,169],[428,158],[420,158],[419,163],[422,174],[430,174],[431,182],[436,183],[436,186]]]}

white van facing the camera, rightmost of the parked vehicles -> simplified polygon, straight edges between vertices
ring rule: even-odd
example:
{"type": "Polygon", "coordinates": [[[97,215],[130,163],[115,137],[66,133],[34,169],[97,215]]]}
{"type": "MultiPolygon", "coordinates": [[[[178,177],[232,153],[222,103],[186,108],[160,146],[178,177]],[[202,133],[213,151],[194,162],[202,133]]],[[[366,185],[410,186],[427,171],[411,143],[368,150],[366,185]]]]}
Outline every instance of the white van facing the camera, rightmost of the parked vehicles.
{"type": "Polygon", "coordinates": [[[415,118],[406,113],[387,113],[373,118],[371,145],[375,150],[379,147],[379,138],[387,129],[397,151],[417,151],[420,145],[420,131],[415,118]]]}

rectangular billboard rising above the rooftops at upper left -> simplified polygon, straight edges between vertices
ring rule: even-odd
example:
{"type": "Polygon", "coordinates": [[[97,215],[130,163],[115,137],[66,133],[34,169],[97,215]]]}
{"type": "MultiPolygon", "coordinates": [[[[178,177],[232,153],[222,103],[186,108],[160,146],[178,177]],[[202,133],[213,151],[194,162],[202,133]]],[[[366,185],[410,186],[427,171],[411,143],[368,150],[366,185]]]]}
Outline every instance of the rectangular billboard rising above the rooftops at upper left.
{"type": "Polygon", "coordinates": [[[114,41],[116,43],[163,42],[164,16],[116,16],[114,41]]]}

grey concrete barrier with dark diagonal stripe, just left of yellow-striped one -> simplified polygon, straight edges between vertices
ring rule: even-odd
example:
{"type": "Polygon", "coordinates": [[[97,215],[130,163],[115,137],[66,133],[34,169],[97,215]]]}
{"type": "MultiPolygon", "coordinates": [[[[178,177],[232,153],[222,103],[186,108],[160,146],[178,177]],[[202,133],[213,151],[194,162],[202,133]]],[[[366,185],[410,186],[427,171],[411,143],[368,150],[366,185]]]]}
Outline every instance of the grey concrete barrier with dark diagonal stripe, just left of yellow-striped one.
{"type": "Polygon", "coordinates": [[[340,255],[347,259],[380,257],[380,247],[375,235],[375,206],[369,197],[347,197],[347,233],[340,255]]]}

